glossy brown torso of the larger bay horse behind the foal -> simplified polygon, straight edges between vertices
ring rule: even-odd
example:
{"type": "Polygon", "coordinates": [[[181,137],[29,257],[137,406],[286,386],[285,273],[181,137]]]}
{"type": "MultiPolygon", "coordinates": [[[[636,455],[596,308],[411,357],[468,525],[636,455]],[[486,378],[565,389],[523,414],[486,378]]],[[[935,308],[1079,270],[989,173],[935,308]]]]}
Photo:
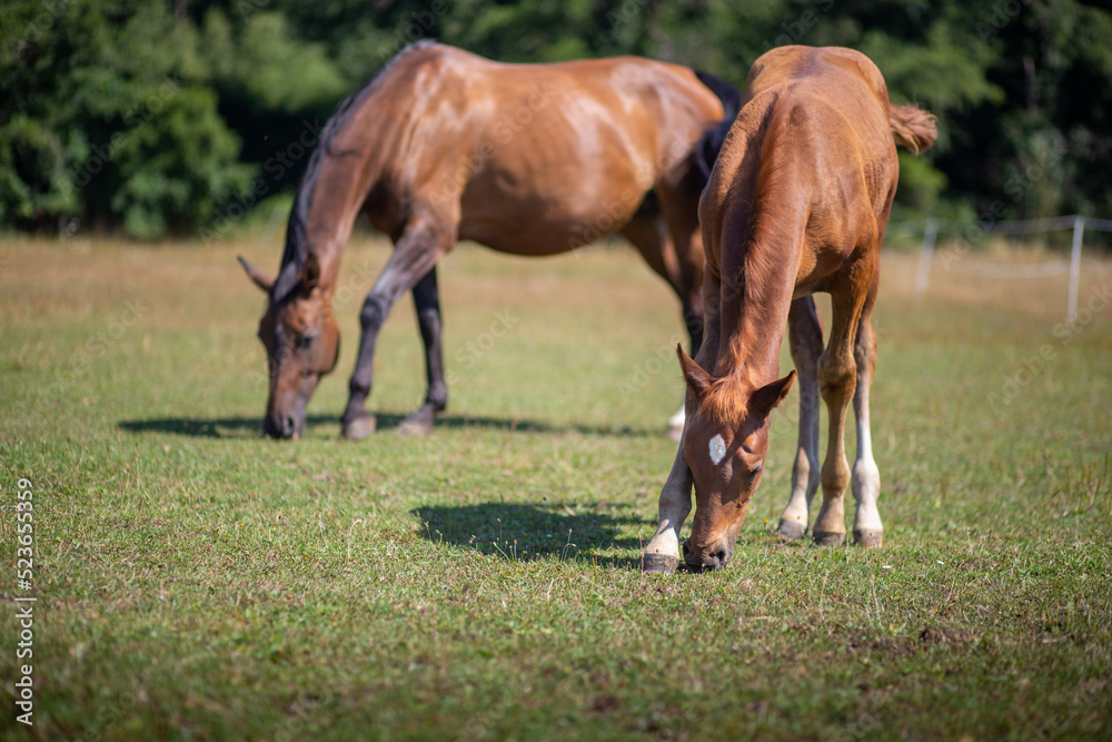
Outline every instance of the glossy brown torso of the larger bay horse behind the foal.
{"type": "Polygon", "coordinates": [[[439,44],[400,59],[364,108],[375,145],[388,142],[384,210],[427,209],[460,239],[529,255],[620,229],[723,116],[675,65],[506,65],[439,44]]]}

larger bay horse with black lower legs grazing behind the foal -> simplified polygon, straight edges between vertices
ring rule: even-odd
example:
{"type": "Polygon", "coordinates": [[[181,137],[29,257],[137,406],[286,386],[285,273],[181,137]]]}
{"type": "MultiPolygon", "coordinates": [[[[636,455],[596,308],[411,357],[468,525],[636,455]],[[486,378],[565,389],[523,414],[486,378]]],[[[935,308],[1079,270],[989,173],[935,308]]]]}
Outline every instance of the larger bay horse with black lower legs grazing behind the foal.
{"type": "Polygon", "coordinates": [[[240,259],[270,298],[259,324],[270,366],[265,431],[297,436],[317,382],[336,365],[332,295],[360,212],[395,250],[363,306],[347,438],[375,429],[364,408],[375,344],[405,291],[417,308],[428,393],[399,432],[427,431],[447,405],[434,266],[460,239],[544,256],[620,234],[679,296],[694,353],[698,196],[739,98],[712,76],[633,57],[499,65],[430,42],[401,51],[325,127],[278,278],[240,259]]]}

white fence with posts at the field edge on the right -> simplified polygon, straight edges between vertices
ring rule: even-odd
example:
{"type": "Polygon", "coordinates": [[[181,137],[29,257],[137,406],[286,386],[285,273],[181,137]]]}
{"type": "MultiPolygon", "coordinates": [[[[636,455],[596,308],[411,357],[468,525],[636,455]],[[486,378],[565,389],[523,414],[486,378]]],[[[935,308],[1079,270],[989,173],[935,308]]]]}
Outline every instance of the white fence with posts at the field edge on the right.
{"type": "MultiPolygon", "coordinates": [[[[939,235],[961,235],[970,229],[984,235],[1037,235],[1049,231],[1073,229],[1073,247],[1070,250],[1070,294],[1066,299],[1065,318],[1072,321],[1078,314],[1078,284],[1081,280],[1081,245],[1084,241],[1085,229],[1112,233],[1112,220],[1093,219],[1080,215],[1068,217],[1050,217],[1046,219],[1022,219],[1012,221],[993,221],[992,224],[959,224],[926,219],[923,222],[904,221],[888,225],[887,234],[911,236],[923,233],[923,248],[919,256],[919,269],[915,273],[915,296],[926,293],[926,281],[931,274],[931,263],[934,260],[934,244],[939,235]]],[[[967,246],[966,246],[967,249],[967,246]]],[[[1065,273],[1062,261],[1043,263],[1033,266],[1007,266],[991,270],[982,269],[981,275],[993,278],[1039,278],[1065,273]]]]}

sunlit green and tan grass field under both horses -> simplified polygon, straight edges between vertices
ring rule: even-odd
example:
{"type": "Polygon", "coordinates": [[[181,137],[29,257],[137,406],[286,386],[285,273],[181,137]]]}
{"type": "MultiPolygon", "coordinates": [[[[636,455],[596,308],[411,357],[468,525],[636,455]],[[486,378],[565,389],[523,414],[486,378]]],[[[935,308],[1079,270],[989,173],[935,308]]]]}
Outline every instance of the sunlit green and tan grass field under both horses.
{"type": "Polygon", "coordinates": [[[793,393],[729,568],[657,577],[681,324],[631,250],[458,248],[448,414],[389,429],[424,394],[407,298],[380,431],[350,444],[363,274],[388,254],[357,239],[339,366],[276,443],[234,259],[274,269],[276,245],[0,245],[4,739],[1112,738],[1112,263],[1085,263],[1069,327],[1064,276],[986,280],[969,255],[916,301],[916,256],[886,255],[884,547],[773,538],[793,393]]]}

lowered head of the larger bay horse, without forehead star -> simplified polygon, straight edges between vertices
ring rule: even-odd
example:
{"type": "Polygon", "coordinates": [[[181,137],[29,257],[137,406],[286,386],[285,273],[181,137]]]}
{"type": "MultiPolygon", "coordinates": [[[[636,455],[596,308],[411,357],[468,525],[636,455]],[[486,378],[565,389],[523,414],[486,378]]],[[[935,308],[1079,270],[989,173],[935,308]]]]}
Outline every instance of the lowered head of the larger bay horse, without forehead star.
{"type": "Polygon", "coordinates": [[[259,320],[259,339],[267,349],[270,394],[262,429],[275,438],[296,438],[305,432],[305,406],[320,377],[339,356],[340,332],[332,317],[331,297],[320,287],[320,264],[309,254],[289,288],[275,290],[275,280],[244,258],[240,265],[269,303],[259,320]]]}

